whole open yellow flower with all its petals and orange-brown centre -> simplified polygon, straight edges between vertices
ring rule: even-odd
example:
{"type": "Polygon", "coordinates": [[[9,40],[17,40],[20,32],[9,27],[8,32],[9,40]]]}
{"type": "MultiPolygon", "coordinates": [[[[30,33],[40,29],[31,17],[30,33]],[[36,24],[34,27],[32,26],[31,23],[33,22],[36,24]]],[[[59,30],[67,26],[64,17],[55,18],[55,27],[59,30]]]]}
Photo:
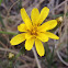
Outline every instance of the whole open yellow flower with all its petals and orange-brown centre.
{"type": "Polygon", "coordinates": [[[23,33],[14,36],[10,41],[11,45],[18,45],[25,41],[25,49],[31,50],[35,43],[37,54],[39,56],[44,56],[45,50],[42,42],[48,42],[49,38],[59,38],[55,34],[47,32],[57,25],[56,20],[50,20],[42,24],[43,21],[47,18],[48,12],[49,9],[47,7],[44,7],[41,13],[36,8],[34,8],[31,12],[30,19],[25,9],[21,9],[21,16],[24,23],[20,24],[18,30],[23,33]]]}

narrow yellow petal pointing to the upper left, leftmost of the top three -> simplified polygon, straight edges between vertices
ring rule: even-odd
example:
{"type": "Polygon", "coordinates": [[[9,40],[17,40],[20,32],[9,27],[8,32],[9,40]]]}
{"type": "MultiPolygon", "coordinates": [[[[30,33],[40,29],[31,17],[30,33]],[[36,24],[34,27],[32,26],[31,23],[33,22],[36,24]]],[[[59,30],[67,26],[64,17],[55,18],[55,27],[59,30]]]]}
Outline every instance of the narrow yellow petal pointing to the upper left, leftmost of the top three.
{"type": "Polygon", "coordinates": [[[30,18],[29,18],[29,15],[27,15],[27,13],[26,13],[24,8],[21,9],[21,16],[22,16],[23,21],[25,22],[27,29],[31,27],[32,22],[31,22],[31,20],[30,20],[30,18]]]}

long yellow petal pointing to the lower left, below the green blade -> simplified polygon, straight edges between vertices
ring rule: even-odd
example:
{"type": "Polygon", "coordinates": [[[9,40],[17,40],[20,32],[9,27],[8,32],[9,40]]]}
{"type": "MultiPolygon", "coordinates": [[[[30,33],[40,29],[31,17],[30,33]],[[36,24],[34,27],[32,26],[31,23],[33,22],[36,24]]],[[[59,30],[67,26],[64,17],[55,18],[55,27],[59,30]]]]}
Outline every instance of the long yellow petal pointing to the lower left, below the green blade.
{"type": "Polygon", "coordinates": [[[11,45],[18,45],[18,44],[22,43],[23,41],[25,41],[25,33],[22,33],[22,34],[14,36],[10,41],[10,43],[11,43],[11,45]]]}

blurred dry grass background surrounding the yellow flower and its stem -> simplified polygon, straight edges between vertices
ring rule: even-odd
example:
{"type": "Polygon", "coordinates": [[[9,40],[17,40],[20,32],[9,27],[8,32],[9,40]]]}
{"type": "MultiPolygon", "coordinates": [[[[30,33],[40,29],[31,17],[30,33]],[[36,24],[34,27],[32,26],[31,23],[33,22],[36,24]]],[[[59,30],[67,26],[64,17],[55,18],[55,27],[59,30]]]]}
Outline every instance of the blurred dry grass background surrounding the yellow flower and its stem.
{"type": "Polygon", "coordinates": [[[42,68],[68,68],[68,0],[0,0],[0,68],[37,68],[33,52],[25,50],[24,43],[11,46],[10,39],[20,33],[18,25],[23,23],[20,9],[29,15],[33,8],[39,11],[49,8],[45,21],[56,19],[58,25],[50,32],[59,41],[43,43],[45,56],[39,57],[42,68]]]}

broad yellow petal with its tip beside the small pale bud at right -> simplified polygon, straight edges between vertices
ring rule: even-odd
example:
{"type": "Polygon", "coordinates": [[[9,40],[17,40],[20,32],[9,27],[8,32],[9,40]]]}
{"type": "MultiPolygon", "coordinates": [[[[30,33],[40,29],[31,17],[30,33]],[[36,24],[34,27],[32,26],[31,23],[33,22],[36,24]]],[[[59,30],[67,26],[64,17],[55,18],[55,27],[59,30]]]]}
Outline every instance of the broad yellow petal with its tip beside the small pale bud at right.
{"type": "Polygon", "coordinates": [[[45,32],[45,31],[47,31],[47,30],[54,29],[56,25],[57,25],[57,21],[56,21],[56,20],[50,20],[50,21],[47,21],[47,22],[45,22],[44,24],[42,24],[42,25],[38,27],[38,31],[39,31],[39,32],[45,32]]]}

